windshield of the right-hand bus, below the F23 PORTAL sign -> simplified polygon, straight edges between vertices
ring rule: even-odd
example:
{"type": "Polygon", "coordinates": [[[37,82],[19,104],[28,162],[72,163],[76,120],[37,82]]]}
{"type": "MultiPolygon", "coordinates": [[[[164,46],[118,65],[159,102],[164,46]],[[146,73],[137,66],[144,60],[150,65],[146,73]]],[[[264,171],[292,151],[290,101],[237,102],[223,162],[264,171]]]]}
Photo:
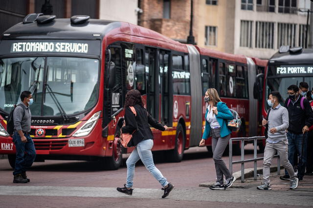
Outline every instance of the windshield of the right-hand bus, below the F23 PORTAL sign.
{"type": "MultiPolygon", "coordinates": [[[[292,65],[291,65],[292,67],[292,65]]],[[[277,67],[269,66],[268,67],[268,76],[266,79],[266,90],[265,90],[265,108],[266,110],[269,109],[269,106],[267,104],[268,95],[272,91],[278,91],[280,95],[282,95],[282,101],[281,105],[284,106],[285,100],[288,98],[287,95],[287,88],[294,84],[299,86],[300,82],[307,82],[309,85],[309,90],[312,90],[313,87],[313,73],[309,74],[294,74],[294,75],[278,75],[275,72],[277,72],[277,67]]]]}

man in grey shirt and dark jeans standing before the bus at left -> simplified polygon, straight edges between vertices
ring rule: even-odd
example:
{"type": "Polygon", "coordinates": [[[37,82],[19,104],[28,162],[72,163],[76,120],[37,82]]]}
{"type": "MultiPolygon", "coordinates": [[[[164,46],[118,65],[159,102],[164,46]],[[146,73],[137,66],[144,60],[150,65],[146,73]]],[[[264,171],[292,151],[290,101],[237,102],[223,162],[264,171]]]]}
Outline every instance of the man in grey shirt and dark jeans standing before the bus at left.
{"type": "Polygon", "coordinates": [[[29,106],[33,103],[29,91],[21,94],[22,103],[13,111],[13,142],[16,148],[15,170],[13,183],[27,183],[26,170],[31,167],[36,157],[34,142],[30,137],[31,113],[29,106]],[[26,152],[26,154],[25,154],[26,152]]]}

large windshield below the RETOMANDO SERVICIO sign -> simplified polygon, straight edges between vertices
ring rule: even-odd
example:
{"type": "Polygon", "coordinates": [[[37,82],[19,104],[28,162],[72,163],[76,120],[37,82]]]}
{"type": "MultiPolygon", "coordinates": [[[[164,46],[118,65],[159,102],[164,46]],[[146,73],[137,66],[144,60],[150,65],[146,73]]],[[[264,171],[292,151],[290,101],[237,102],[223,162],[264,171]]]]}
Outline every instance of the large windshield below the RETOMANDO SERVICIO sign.
{"type": "Polygon", "coordinates": [[[2,58],[0,109],[9,113],[20,102],[22,91],[28,90],[34,98],[33,116],[63,116],[89,110],[98,100],[98,75],[98,59],[2,58]]]}

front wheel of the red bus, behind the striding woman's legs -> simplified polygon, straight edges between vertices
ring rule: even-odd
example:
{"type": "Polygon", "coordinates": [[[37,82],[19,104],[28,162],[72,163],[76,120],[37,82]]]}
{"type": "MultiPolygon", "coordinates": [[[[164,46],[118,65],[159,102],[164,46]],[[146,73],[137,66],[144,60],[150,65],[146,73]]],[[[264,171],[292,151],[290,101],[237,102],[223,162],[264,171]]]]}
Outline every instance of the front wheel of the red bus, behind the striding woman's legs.
{"type": "Polygon", "coordinates": [[[106,170],[117,170],[122,165],[122,161],[122,144],[119,139],[115,137],[112,156],[105,157],[104,164],[102,164],[102,166],[106,170]]]}

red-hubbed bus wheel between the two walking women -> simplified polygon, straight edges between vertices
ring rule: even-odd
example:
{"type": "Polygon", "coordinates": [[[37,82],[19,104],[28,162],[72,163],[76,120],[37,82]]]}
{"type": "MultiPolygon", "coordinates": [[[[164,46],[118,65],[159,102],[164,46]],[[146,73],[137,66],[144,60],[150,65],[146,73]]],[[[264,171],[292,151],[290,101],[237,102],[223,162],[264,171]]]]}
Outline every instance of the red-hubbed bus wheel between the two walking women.
{"type": "Polygon", "coordinates": [[[185,150],[185,133],[181,124],[177,126],[175,136],[175,148],[169,152],[169,158],[172,162],[180,162],[185,150]]]}

